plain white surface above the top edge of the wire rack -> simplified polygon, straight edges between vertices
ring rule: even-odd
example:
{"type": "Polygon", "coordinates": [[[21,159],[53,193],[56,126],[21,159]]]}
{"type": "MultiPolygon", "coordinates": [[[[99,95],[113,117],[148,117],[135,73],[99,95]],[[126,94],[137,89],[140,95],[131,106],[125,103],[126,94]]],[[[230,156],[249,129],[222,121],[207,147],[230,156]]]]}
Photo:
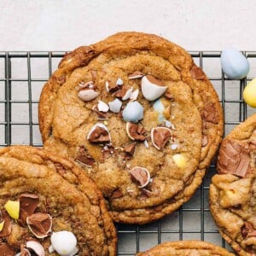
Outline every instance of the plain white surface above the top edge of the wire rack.
{"type": "Polygon", "coordinates": [[[185,49],[256,48],[253,0],[0,0],[0,50],[67,50],[121,31],[185,49]]]}

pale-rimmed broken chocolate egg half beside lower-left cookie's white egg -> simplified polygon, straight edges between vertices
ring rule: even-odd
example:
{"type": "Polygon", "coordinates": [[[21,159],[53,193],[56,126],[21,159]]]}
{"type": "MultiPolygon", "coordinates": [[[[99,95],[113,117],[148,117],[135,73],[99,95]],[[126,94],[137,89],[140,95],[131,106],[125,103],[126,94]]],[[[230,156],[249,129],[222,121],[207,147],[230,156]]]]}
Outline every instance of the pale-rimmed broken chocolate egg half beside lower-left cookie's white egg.
{"type": "Polygon", "coordinates": [[[49,236],[52,226],[52,218],[47,213],[34,213],[26,218],[29,230],[38,238],[49,236]]]}

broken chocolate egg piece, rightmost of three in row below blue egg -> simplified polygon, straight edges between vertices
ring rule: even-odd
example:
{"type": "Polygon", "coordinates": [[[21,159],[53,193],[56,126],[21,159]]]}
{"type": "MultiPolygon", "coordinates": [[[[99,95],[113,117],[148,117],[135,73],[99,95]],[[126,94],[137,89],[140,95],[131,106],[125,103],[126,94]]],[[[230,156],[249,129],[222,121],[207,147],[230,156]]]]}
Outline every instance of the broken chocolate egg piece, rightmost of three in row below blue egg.
{"type": "Polygon", "coordinates": [[[157,149],[164,148],[171,137],[172,131],[166,127],[156,127],[151,131],[151,140],[157,149]]]}

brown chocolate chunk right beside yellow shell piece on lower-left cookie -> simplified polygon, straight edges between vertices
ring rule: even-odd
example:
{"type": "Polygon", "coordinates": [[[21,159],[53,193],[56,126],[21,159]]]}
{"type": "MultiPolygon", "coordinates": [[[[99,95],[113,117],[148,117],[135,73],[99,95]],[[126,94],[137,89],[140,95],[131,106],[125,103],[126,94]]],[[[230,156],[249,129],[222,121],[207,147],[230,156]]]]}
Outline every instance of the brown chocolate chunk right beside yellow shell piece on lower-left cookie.
{"type": "Polygon", "coordinates": [[[26,218],[35,212],[38,207],[39,197],[35,194],[20,195],[20,218],[19,224],[25,226],[26,218]]]}

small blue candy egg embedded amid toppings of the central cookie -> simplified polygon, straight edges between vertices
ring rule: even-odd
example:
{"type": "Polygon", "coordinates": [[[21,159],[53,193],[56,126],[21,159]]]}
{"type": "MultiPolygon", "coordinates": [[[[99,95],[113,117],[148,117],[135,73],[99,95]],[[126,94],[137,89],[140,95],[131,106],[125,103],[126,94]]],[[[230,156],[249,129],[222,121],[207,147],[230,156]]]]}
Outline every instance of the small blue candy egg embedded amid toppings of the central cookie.
{"type": "Polygon", "coordinates": [[[143,110],[144,108],[139,102],[129,102],[123,111],[123,119],[126,122],[137,123],[143,119],[143,110]]]}

